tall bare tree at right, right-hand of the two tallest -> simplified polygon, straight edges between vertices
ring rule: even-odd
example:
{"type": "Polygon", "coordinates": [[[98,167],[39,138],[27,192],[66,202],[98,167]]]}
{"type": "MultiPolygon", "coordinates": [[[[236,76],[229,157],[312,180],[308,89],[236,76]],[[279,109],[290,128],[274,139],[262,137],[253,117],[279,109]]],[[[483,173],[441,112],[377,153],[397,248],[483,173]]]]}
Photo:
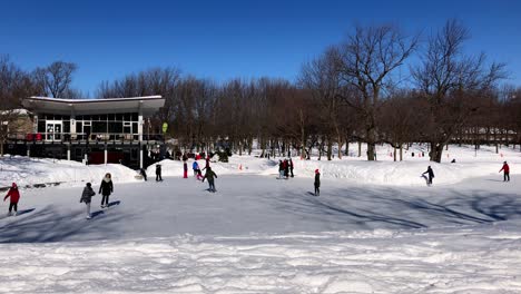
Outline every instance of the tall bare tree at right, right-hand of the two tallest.
{"type": "Polygon", "coordinates": [[[472,97],[486,95],[504,76],[502,63],[485,65],[484,53],[462,52],[469,31],[450,20],[429,40],[422,63],[412,69],[419,90],[430,102],[426,127],[430,158],[441,161],[443,147],[478,109],[472,97]]]}

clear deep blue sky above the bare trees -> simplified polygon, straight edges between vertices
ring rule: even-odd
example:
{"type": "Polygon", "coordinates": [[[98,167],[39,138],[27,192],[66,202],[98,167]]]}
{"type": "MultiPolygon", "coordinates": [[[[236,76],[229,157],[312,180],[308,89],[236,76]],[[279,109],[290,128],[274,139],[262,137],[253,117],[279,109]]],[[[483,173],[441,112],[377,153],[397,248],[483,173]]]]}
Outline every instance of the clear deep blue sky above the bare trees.
{"type": "Polygon", "coordinates": [[[449,18],[471,31],[466,51],[508,63],[521,86],[521,1],[2,1],[0,53],[31,70],[79,66],[73,86],[173,66],[216,81],[294,80],[304,61],[353,24],[393,22],[426,37],[449,18]]]}

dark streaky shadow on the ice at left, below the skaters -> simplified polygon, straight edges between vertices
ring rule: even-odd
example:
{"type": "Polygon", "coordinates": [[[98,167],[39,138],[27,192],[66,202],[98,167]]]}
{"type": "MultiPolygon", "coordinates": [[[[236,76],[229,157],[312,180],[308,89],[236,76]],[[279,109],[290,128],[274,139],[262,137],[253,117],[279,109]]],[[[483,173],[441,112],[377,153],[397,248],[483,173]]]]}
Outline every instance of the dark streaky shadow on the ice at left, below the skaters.
{"type": "Polygon", "coordinates": [[[37,209],[27,217],[14,218],[0,226],[0,243],[45,243],[61,241],[107,239],[118,237],[109,223],[121,224],[122,214],[105,214],[85,219],[79,212],[57,212],[52,206],[37,209]]]}

